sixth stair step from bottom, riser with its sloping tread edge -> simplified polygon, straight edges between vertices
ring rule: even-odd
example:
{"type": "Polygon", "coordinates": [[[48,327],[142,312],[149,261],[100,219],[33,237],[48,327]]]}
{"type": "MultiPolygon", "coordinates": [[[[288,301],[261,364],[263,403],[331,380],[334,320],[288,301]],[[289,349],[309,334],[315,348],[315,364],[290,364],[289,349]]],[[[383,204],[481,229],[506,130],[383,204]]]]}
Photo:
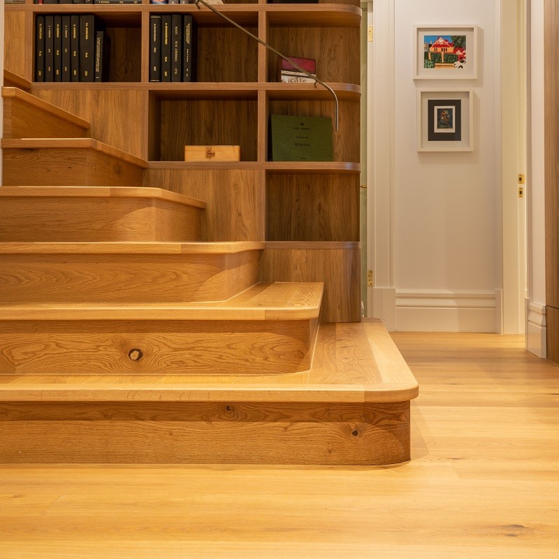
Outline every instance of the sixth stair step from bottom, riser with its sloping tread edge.
{"type": "Polygon", "coordinates": [[[89,124],[17,88],[2,89],[4,138],[85,138],[89,124]]]}

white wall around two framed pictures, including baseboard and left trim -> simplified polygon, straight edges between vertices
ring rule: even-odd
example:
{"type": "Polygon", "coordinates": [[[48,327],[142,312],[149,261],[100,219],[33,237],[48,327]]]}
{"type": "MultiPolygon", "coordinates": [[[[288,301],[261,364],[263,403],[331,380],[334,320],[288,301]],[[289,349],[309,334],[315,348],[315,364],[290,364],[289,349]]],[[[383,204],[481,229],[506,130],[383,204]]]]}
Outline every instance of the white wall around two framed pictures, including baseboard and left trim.
{"type": "MultiPolygon", "coordinates": [[[[393,242],[388,236],[391,232],[379,228],[374,242],[381,248],[391,244],[393,250],[391,262],[375,263],[375,276],[390,277],[384,268],[393,266],[393,280],[375,286],[383,308],[379,312],[373,305],[369,311],[372,316],[390,318],[386,293],[392,289],[397,330],[494,332],[499,328],[500,18],[496,4],[487,0],[375,2],[375,10],[393,17],[394,29],[393,78],[377,74],[374,86],[388,91],[393,87],[393,98],[375,111],[388,121],[386,126],[393,119],[393,159],[386,159],[386,147],[373,147],[375,173],[390,177],[390,170],[382,168],[393,169],[388,187],[386,181],[375,181],[375,191],[389,188],[393,193],[393,207],[375,208],[377,217],[385,212],[393,215],[393,242]],[[478,25],[477,80],[413,80],[416,24],[478,25]],[[387,79],[393,82],[386,83],[387,79]],[[417,152],[416,92],[433,87],[474,89],[473,152],[417,152]],[[392,117],[384,115],[386,110],[392,111],[392,117]]],[[[391,40],[379,29],[381,24],[377,20],[375,27],[375,60],[380,61],[390,55],[389,45],[380,41],[391,40]]],[[[377,143],[382,138],[382,122],[378,126],[377,143]]],[[[386,132],[386,141],[391,141],[386,132]]]]}

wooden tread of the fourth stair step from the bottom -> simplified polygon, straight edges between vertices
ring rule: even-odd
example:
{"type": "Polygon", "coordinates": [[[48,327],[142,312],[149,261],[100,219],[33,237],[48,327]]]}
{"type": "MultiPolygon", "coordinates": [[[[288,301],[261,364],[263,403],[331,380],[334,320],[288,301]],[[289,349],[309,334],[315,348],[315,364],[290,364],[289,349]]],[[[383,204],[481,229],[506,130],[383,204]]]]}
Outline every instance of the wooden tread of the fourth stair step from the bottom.
{"type": "Polygon", "coordinates": [[[5,198],[157,198],[167,202],[206,208],[206,203],[191,196],[155,187],[0,187],[5,198]]]}

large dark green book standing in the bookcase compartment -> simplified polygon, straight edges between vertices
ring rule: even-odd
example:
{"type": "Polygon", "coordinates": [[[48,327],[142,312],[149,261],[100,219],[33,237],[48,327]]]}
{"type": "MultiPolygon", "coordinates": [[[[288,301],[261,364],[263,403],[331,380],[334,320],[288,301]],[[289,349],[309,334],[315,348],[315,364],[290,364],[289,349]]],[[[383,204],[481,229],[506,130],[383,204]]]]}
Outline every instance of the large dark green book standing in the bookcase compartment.
{"type": "Polygon", "coordinates": [[[270,115],[272,161],[333,161],[332,119],[270,115]]]}

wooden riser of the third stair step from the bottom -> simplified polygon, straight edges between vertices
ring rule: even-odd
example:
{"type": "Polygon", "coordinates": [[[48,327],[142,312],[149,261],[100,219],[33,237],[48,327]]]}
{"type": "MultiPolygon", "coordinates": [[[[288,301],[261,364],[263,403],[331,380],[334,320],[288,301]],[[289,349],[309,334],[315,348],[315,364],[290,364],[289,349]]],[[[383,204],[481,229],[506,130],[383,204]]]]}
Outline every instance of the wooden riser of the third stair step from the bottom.
{"type": "Polygon", "coordinates": [[[258,282],[259,251],[237,254],[1,254],[3,303],[222,301],[258,282]]]}

